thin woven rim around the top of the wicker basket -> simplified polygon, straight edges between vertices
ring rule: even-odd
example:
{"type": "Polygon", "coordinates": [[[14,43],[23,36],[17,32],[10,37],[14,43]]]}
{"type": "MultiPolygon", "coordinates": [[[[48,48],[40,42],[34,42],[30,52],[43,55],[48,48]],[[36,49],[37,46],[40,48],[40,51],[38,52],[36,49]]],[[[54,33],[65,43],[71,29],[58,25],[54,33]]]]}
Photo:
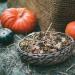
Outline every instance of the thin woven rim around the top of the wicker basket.
{"type": "MultiPolygon", "coordinates": [[[[44,32],[44,31],[41,31],[41,32],[44,32]]],[[[48,31],[48,32],[50,32],[50,31],[48,31]]],[[[29,35],[27,35],[27,36],[25,36],[23,39],[21,39],[19,42],[18,42],[18,45],[17,45],[17,47],[18,47],[18,50],[21,52],[21,53],[23,53],[23,54],[25,54],[25,55],[29,55],[30,53],[26,53],[25,51],[23,51],[21,48],[20,48],[20,46],[19,46],[19,44],[20,44],[20,42],[22,42],[26,37],[28,37],[28,36],[30,36],[30,35],[33,35],[33,34],[35,34],[35,33],[40,33],[40,32],[32,32],[32,33],[30,33],[29,35]]],[[[69,39],[71,39],[71,43],[73,43],[74,42],[74,39],[71,37],[71,36],[69,36],[69,35],[67,35],[67,34],[65,34],[65,33],[62,33],[62,32],[55,32],[55,34],[58,34],[58,33],[60,33],[60,34],[64,34],[65,36],[67,36],[69,39]]],[[[70,46],[70,45],[68,45],[68,46],[70,46]]],[[[64,50],[68,47],[68,46],[66,46],[66,47],[64,47],[64,50]]],[[[63,48],[63,47],[62,47],[63,48]]],[[[60,49],[61,50],[61,49],[60,49]]],[[[60,51],[59,50],[59,51],[60,51]]],[[[62,50],[61,50],[62,51],[62,50]]],[[[58,51],[57,51],[58,52],[58,51]]],[[[54,53],[54,52],[53,52],[54,53]]],[[[47,55],[47,56],[49,56],[51,53],[47,53],[47,54],[41,54],[41,56],[44,56],[44,55],[47,55]]],[[[33,54],[33,53],[31,53],[30,54],[31,56],[37,56],[37,55],[40,55],[40,54],[33,54]]]]}

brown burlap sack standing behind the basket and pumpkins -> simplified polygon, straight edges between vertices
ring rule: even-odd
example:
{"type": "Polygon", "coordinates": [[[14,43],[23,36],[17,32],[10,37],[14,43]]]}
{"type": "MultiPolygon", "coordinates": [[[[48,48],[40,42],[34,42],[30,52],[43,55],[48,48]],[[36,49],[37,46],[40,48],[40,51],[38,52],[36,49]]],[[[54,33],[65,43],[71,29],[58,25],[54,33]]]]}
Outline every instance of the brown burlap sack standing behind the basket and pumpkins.
{"type": "Polygon", "coordinates": [[[9,0],[8,6],[33,9],[42,31],[46,31],[51,22],[51,29],[64,31],[66,24],[75,20],[75,0],[15,0],[15,3],[9,0]]]}

